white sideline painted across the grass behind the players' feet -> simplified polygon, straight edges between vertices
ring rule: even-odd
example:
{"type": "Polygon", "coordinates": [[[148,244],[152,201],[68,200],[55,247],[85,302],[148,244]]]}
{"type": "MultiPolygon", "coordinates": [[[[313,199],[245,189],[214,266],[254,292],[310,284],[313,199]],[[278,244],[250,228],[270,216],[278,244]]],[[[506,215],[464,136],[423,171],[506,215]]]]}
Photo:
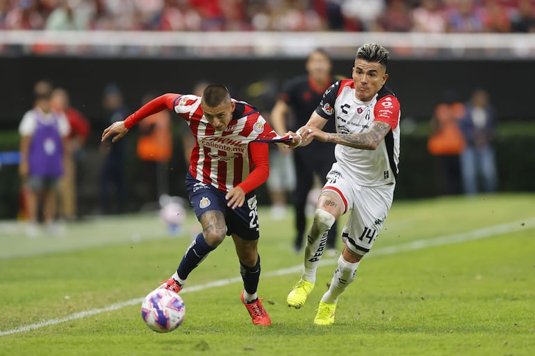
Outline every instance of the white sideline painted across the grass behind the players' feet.
{"type": "MultiPolygon", "coordinates": [[[[470,232],[462,232],[462,233],[454,234],[454,235],[445,235],[445,236],[435,237],[434,239],[422,239],[422,240],[412,241],[407,244],[400,244],[396,246],[378,248],[377,250],[372,251],[372,253],[370,253],[370,255],[368,255],[367,258],[370,258],[373,256],[393,255],[394,253],[399,253],[403,251],[420,250],[422,248],[431,247],[431,246],[444,246],[448,244],[459,244],[461,242],[484,239],[486,237],[492,237],[492,236],[504,234],[507,232],[515,232],[518,230],[523,230],[526,228],[534,228],[534,227],[535,227],[535,218],[522,220],[522,221],[514,221],[512,223],[504,223],[501,225],[490,226],[488,228],[481,228],[481,229],[473,230],[470,232]]],[[[322,260],[320,264],[322,266],[326,266],[329,264],[336,264],[337,261],[338,261],[338,258],[336,259],[331,258],[327,260],[322,260]]],[[[263,273],[263,277],[286,276],[290,273],[300,272],[301,269],[302,269],[302,265],[299,264],[297,266],[289,267],[287,269],[279,269],[277,271],[263,273]]],[[[214,282],[206,283],[204,285],[194,285],[194,286],[188,287],[188,289],[184,289],[183,291],[180,292],[180,294],[191,293],[193,291],[201,291],[203,289],[209,289],[212,287],[222,287],[225,285],[229,285],[231,283],[241,282],[241,280],[242,280],[241,277],[236,277],[236,278],[229,278],[229,279],[224,279],[224,280],[216,280],[214,282]]],[[[140,304],[142,301],[143,301],[143,298],[135,298],[135,299],[127,300],[126,302],[115,303],[104,308],[92,309],[92,310],[86,310],[85,312],[74,313],[69,316],[65,316],[65,318],[56,318],[56,319],[51,319],[48,321],[42,321],[41,323],[21,326],[19,328],[15,328],[11,330],[0,331],[0,336],[15,334],[17,332],[26,332],[30,330],[40,329],[49,325],[56,325],[59,323],[65,323],[66,321],[82,319],[82,318],[85,318],[86,316],[92,316],[92,315],[100,314],[104,312],[111,312],[113,310],[122,309],[123,307],[129,307],[131,305],[140,304]]]]}

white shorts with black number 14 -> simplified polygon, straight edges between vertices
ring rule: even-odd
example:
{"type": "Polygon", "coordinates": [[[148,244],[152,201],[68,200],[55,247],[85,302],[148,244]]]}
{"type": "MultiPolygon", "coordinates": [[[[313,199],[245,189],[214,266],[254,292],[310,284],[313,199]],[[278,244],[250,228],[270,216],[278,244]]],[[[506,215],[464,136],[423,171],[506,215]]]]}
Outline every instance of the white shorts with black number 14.
{"type": "Polygon", "coordinates": [[[395,185],[364,187],[355,183],[340,169],[327,173],[322,191],[336,192],[349,212],[342,237],[350,251],[359,255],[368,253],[381,232],[394,198],[395,185]]]}

